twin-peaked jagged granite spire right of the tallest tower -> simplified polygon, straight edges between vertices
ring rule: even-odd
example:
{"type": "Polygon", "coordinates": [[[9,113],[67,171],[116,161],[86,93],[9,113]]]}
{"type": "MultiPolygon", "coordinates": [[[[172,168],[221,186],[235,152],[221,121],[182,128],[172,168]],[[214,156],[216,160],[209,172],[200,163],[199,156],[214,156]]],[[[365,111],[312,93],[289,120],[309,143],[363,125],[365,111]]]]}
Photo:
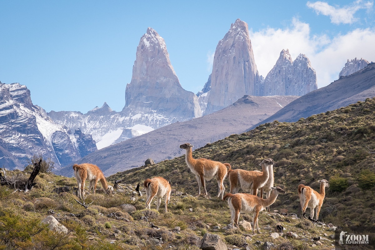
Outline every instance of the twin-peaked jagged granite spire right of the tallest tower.
{"type": "Polygon", "coordinates": [[[318,89],[317,75],[306,55],[292,60],[289,50],[283,49],[273,69],[264,79],[265,96],[303,96],[318,89]]]}

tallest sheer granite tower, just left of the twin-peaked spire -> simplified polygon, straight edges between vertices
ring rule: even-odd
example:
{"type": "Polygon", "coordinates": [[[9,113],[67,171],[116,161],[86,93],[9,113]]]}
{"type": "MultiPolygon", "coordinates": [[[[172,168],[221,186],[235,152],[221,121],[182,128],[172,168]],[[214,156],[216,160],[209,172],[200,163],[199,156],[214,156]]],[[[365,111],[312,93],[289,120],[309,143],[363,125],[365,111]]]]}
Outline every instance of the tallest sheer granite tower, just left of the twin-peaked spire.
{"type": "Polygon", "coordinates": [[[248,24],[237,19],[216,47],[204,115],[231,105],[245,94],[262,96],[262,92],[248,24]]]}

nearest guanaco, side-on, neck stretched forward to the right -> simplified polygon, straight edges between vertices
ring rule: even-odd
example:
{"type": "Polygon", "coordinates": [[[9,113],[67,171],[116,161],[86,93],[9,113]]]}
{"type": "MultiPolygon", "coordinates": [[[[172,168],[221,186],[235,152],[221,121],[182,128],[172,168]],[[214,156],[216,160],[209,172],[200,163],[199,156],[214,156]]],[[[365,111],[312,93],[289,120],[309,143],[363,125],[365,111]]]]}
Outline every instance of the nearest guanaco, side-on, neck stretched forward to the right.
{"type": "Polygon", "coordinates": [[[257,225],[258,234],[260,234],[259,226],[258,226],[258,215],[259,212],[264,210],[269,205],[273,204],[276,201],[279,193],[285,194],[285,190],[281,189],[280,187],[272,187],[273,191],[271,196],[268,199],[262,199],[255,195],[249,195],[247,193],[236,193],[232,195],[231,193],[227,193],[223,197],[223,201],[226,198],[228,199],[228,205],[231,210],[231,223],[234,227],[236,224],[237,228],[240,228],[238,225],[238,221],[240,219],[240,213],[253,213],[253,234],[255,230],[255,225],[257,225]]]}

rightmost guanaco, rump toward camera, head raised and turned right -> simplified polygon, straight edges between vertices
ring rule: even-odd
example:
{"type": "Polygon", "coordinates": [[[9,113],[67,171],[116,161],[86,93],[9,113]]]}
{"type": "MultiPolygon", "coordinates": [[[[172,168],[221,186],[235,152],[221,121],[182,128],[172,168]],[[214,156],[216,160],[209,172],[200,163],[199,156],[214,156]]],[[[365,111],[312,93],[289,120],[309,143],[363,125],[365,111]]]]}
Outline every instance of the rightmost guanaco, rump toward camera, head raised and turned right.
{"type": "Polygon", "coordinates": [[[328,181],[323,179],[320,182],[320,192],[318,193],[311,187],[303,184],[298,185],[298,195],[300,196],[300,203],[302,207],[302,215],[304,218],[306,208],[310,208],[310,217],[314,218],[314,208],[317,210],[316,220],[318,220],[320,208],[322,207],[324,196],[326,196],[326,187],[329,187],[328,181]]]}

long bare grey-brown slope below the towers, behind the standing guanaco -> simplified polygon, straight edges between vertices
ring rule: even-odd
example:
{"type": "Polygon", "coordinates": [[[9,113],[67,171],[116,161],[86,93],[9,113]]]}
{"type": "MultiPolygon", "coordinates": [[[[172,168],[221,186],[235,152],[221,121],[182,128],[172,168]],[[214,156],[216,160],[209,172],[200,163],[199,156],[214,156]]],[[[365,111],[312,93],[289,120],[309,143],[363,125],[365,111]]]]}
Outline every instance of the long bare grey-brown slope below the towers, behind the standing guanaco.
{"type": "MultiPolygon", "coordinates": [[[[295,96],[245,96],[233,105],[204,117],[173,123],[145,135],[104,148],[77,161],[94,163],[105,175],[141,166],[147,158],[155,162],[180,154],[178,146],[189,141],[195,147],[242,132],[287,105],[295,96]],[[178,145],[177,145],[178,144],[178,145]]],[[[72,176],[71,166],[58,174],[72,176]]]]}

